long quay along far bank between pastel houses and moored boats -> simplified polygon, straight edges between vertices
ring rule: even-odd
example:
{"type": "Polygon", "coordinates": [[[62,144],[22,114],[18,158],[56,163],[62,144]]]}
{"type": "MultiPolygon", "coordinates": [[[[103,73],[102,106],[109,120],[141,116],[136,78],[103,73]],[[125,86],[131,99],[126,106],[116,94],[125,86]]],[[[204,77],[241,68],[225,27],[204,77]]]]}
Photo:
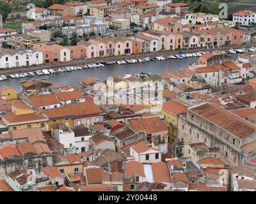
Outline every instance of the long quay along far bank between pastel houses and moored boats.
{"type": "Polygon", "coordinates": [[[63,68],[67,66],[81,66],[85,64],[92,64],[95,62],[108,62],[108,61],[121,61],[121,60],[127,60],[127,59],[139,59],[139,58],[145,58],[145,57],[157,57],[159,55],[163,55],[166,57],[167,55],[175,55],[175,54],[189,54],[193,52],[209,52],[209,51],[216,51],[216,50],[228,50],[230,48],[249,48],[252,46],[255,46],[256,43],[253,41],[248,45],[239,45],[239,46],[225,46],[220,48],[193,48],[188,50],[164,50],[164,51],[158,51],[158,52],[143,52],[140,54],[131,54],[131,55],[119,55],[119,56],[113,56],[113,57],[97,57],[97,58],[91,58],[91,59],[79,59],[74,61],[68,61],[68,62],[56,62],[54,64],[39,64],[35,66],[24,66],[19,68],[9,68],[9,69],[1,69],[0,75],[12,75],[15,73],[24,73],[29,71],[37,71],[42,69],[58,69],[63,68]]]}

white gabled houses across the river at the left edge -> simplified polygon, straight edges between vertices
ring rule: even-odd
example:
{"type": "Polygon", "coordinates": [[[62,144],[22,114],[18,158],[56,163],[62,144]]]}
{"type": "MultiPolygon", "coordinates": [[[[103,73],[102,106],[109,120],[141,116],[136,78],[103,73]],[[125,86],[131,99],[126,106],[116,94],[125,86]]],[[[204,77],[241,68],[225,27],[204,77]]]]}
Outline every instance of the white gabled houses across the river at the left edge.
{"type": "Polygon", "coordinates": [[[43,53],[33,49],[0,50],[0,68],[17,68],[43,64],[43,53]]]}

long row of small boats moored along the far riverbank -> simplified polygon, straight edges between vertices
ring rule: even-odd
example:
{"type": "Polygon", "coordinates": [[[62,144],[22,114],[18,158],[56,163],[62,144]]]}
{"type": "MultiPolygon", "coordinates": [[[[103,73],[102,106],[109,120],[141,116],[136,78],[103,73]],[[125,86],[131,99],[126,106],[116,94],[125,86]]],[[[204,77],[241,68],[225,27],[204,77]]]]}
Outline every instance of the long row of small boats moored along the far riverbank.
{"type": "MultiPolygon", "coordinates": [[[[256,52],[255,47],[251,48],[241,48],[241,49],[230,49],[227,51],[221,51],[223,53],[230,53],[230,54],[241,54],[241,53],[247,53],[247,52],[256,52]]],[[[183,58],[188,58],[188,57],[200,57],[203,54],[207,52],[196,52],[196,53],[191,53],[191,54],[177,54],[177,55],[167,55],[166,57],[164,56],[157,56],[157,57],[145,57],[141,59],[127,59],[123,61],[110,61],[110,62],[102,62],[102,63],[94,63],[94,64],[86,64],[84,66],[68,66],[65,68],[58,68],[58,69],[42,69],[35,71],[29,71],[28,73],[17,73],[10,75],[10,78],[24,78],[24,77],[34,77],[35,75],[41,76],[41,75],[51,75],[54,73],[60,73],[63,71],[76,71],[76,70],[82,70],[82,69],[92,69],[92,68],[100,68],[104,67],[109,64],[134,64],[137,62],[147,62],[147,61],[163,61],[163,60],[168,60],[168,59],[183,59],[183,58]]],[[[5,75],[0,76],[0,81],[7,80],[8,77],[5,75]]]]}

